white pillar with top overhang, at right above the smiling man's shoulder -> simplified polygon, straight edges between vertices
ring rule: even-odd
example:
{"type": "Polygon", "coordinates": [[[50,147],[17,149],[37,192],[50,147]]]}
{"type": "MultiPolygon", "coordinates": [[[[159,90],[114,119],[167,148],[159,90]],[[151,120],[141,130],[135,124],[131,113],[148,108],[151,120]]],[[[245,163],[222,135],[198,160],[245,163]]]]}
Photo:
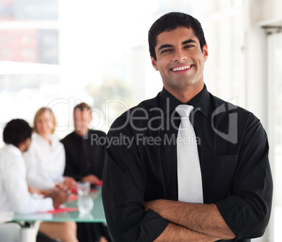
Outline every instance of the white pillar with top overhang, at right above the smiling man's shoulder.
{"type": "Polygon", "coordinates": [[[246,0],[246,107],[267,127],[267,34],[282,22],[281,0],[246,0]]]}

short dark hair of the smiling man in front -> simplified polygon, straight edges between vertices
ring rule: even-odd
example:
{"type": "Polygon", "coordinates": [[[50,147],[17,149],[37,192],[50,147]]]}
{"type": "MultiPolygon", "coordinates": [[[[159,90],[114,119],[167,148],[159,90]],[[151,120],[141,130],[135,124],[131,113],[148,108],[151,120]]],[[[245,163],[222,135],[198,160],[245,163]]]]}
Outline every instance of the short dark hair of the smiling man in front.
{"type": "Polygon", "coordinates": [[[149,41],[149,51],[152,58],[156,60],[156,37],[162,32],[171,31],[177,29],[177,27],[186,27],[187,29],[192,29],[195,36],[199,39],[201,50],[203,51],[203,46],[206,45],[205,35],[203,34],[203,29],[201,23],[193,18],[191,15],[186,13],[166,13],[161,16],[152,27],[149,29],[148,41],[149,41]]]}

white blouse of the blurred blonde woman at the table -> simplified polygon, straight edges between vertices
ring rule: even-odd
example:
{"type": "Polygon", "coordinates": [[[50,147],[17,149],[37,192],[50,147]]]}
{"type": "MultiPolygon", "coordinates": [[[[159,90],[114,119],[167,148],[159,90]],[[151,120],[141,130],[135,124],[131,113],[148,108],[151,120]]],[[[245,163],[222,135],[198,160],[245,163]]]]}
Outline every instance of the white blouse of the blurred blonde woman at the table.
{"type": "Polygon", "coordinates": [[[65,148],[55,137],[51,144],[34,133],[27,152],[23,154],[27,165],[27,183],[39,189],[52,189],[64,180],[65,148]]]}

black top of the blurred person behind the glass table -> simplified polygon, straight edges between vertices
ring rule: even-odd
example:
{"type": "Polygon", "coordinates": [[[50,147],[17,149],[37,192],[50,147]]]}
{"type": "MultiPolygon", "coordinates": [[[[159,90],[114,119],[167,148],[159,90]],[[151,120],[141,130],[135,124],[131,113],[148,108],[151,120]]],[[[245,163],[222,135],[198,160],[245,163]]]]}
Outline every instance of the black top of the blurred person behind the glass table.
{"type": "Polygon", "coordinates": [[[72,132],[63,138],[61,142],[66,154],[65,175],[79,181],[81,177],[92,174],[102,180],[105,142],[102,144],[101,141],[105,137],[106,134],[100,130],[88,130],[86,137],[72,132]]]}

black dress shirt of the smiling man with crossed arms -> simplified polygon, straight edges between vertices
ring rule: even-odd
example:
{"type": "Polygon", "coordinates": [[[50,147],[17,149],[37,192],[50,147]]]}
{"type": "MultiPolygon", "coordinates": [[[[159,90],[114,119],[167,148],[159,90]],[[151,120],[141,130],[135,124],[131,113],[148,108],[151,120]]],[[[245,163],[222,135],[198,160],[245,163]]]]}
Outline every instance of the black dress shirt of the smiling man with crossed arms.
{"type": "MultiPolygon", "coordinates": [[[[102,199],[112,241],[154,241],[168,221],[144,201],[177,201],[177,129],[182,104],[163,88],[114,121],[107,135],[102,199]],[[131,141],[133,141],[131,143],[131,141]]],[[[203,202],[215,203],[236,235],[262,236],[269,222],[272,179],[267,135],[246,109],[208,93],[189,103],[198,140],[203,202]]],[[[189,154],[187,154],[189,160],[189,154]]]]}

